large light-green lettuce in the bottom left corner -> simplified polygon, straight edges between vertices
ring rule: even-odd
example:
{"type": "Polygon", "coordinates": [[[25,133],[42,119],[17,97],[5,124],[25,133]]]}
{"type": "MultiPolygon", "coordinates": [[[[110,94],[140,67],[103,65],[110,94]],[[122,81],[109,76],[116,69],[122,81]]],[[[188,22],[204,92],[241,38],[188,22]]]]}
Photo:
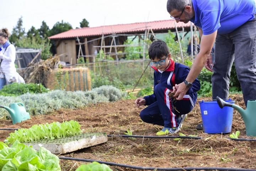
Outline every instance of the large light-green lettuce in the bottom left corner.
{"type": "Polygon", "coordinates": [[[0,141],[1,171],[60,171],[59,158],[41,147],[36,151],[15,141],[11,147],[0,141]]]}

